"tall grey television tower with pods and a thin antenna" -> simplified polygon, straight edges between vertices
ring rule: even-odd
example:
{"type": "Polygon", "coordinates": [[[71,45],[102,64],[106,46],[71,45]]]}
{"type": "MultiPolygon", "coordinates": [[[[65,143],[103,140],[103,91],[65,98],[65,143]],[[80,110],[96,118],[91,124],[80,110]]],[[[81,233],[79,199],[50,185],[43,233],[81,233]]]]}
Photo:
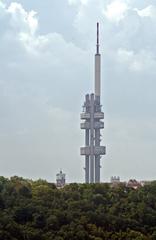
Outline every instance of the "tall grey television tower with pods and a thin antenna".
{"type": "Polygon", "coordinates": [[[81,129],[85,130],[85,147],[80,148],[81,155],[85,156],[85,182],[100,182],[100,159],[106,153],[106,147],[101,146],[100,129],[104,128],[104,113],[101,111],[101,55],[99,52],[99,23],[97,23],[97,44],[95,54],[95,89],[94,93],[86,94],[81,129]]]}

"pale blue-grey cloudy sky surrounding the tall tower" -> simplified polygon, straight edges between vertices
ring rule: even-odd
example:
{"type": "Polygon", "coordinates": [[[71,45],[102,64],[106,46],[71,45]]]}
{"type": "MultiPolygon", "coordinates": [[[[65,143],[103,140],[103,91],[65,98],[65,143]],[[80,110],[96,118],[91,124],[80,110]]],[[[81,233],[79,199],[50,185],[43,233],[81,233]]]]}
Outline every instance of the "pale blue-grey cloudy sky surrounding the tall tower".
{"type": "Polygon", "coordinates": [[[156,179],[155,0],[0,0],[0,175],[84,181],[97,21],[102,181],[156,179]]]}

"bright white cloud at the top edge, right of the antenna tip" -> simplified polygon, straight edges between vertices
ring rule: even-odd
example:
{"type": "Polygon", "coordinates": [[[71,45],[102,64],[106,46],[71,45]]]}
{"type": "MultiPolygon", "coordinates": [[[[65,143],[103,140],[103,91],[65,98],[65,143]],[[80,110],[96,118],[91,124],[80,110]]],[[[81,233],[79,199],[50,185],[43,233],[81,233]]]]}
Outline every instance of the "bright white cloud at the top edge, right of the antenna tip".
{"type": "Polygon", "coordinates": [[[123,0],[115,0],[107,5],[104,15],[112,22],[119,22],[125,16],[128,10],[128,4],[123,0]]]}

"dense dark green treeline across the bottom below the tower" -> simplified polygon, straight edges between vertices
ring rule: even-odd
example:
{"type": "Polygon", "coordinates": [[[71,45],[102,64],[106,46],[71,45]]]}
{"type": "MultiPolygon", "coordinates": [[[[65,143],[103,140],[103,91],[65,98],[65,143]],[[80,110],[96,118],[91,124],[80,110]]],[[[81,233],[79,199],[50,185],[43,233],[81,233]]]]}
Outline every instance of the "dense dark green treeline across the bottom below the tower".
{"type": "Polygon", "coordinates": [[[156,182],[138,190],[0,177],[0,240],[156,240],[156,182]]]}

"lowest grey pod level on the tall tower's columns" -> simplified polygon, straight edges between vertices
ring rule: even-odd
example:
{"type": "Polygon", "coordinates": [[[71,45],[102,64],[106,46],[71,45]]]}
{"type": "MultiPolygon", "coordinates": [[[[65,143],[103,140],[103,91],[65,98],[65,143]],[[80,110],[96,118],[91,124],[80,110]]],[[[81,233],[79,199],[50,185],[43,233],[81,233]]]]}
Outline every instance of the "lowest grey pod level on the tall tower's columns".
{"type": "MultiPolygon", "coordinates": [[[[81,147],[80,154],[85,156],[91,155],[91,147],[81,147]]],[[[105,155],[106,154],[106,147],[105,146],[94,146],[93,147],[93,155],[105,155]]]]}

